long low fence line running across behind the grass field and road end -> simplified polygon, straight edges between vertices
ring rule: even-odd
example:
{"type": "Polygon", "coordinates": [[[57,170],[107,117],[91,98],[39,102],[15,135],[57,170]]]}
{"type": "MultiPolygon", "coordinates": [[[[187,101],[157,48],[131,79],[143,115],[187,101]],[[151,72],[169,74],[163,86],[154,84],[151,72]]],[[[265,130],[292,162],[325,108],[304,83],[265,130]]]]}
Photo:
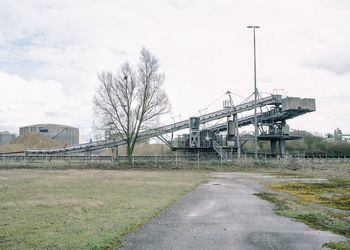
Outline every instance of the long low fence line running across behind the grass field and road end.
{"type": "MultiPolygon", "coordinates": [[[[256,166],[256,165],[286,165],[294,163],[350,163],[348,156],[291,156],[271,157],[271,155],[259,155],[258,161],[255,161],[250,154],[243,154],[240,159],[230,157],[229,160],[224,160],[220,156],[213,157],[207,153],[195,154],[168,154],[168,155],[147,155],[147,156],[132,156],[132,165],[164,165],[170,164],[178,167],[179,165],[213,165],[213,166],[256,166]]],[[[1,166],[34,166],[34,165],[119,165],[127,164],[127,156],[119,156],[114,159],[112,156],[98,156],[98,155],[0,155],[1,166]]]]}

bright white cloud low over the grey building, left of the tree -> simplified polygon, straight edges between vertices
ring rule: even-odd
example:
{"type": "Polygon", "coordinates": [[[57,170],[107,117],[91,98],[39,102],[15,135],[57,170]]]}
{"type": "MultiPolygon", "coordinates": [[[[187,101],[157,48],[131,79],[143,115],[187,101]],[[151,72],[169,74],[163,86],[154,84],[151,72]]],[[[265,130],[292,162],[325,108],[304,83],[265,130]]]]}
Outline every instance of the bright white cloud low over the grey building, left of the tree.
{"type": "Polygon", "coordinates": [[[37,123],[59,123],[82,128],[87,133],[91,125],[91,105],[64,95],[57,81],[27,81],[17,75],[0,71],[2,95],[1,121],[4,130],[37,123]]]}

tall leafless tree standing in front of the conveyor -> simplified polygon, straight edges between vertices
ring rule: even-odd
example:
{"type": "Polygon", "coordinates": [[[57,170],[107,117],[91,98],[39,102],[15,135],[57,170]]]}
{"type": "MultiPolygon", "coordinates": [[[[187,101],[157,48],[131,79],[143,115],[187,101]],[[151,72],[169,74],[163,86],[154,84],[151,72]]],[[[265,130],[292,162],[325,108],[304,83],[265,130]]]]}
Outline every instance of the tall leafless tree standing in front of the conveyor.
{"type": "Polygon", "coordinates": [[[159,60],[143,48],[136,67],[126,62],[117,73],[102,72],[98,79],[101,85],[94,97],[95,113],[102,129],[111,129],[125,141],[131,162],[140,131],[170,110],[159,60]]]}

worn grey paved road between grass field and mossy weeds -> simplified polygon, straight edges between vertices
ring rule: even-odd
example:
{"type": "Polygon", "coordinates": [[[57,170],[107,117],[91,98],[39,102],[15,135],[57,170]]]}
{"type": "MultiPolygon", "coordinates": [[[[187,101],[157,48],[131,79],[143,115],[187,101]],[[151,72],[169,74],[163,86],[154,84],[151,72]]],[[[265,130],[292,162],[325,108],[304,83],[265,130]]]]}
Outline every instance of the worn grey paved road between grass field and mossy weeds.
{"type": "MultiPolygon", "coordinates": [[[[259,174],[215,173],[164,213],[129,234],[121,249],[322,249],[342,240],[275,215],[253,194],[259,174]]],[[[271,177],[273,178],[273,177],[271,177]]]]}

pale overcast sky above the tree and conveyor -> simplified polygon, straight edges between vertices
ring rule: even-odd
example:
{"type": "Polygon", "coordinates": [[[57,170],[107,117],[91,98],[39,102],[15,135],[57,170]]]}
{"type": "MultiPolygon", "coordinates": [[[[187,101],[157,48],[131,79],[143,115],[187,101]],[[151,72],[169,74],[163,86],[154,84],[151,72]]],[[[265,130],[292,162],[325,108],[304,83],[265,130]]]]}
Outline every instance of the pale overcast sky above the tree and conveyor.
{"type": "Polygon", "coordinates": [[[59,123],[86,140],[97,74],[135,62],[142,47],[166,75],[173,110],[163,122],[219,109],[227,90],[253,92],[246,26],[260,25],[259,91],[316,98],[294,129],[350,133],[349,22],[348,0],[0,0],[0,131],[59,123]]]}

